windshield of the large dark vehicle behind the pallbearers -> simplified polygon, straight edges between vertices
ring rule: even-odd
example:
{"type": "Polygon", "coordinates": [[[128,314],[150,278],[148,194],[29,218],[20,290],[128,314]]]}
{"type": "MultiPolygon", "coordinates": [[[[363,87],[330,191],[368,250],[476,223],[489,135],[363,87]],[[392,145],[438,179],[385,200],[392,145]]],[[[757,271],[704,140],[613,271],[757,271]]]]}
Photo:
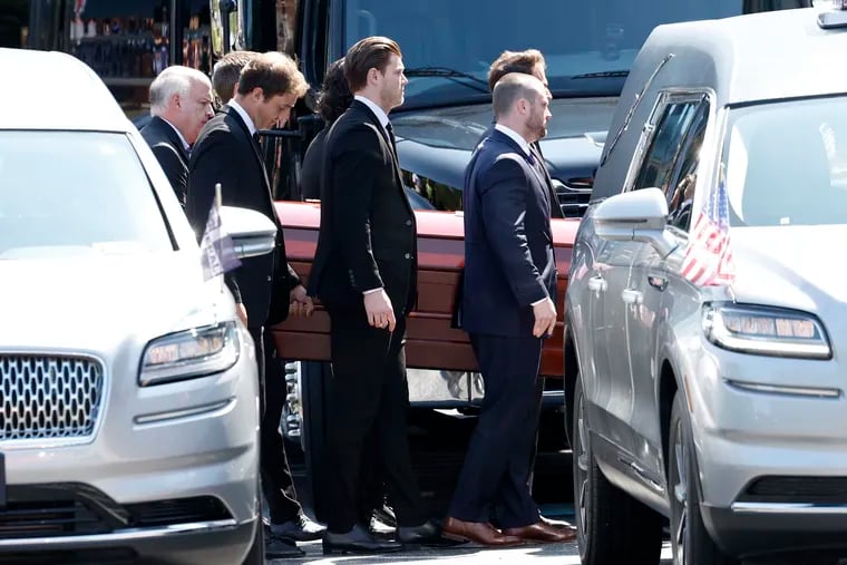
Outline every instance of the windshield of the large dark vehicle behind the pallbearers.
{"type": "Polygon", "coordinates": [[[348,0],[344,49],[372,35],[396,39],[409,69],[406,107],[487,97],[488,67],[505,49],[541,50],[554,96],[616,96],[655,26],[737,16],[748,2],[348,0]]]}

